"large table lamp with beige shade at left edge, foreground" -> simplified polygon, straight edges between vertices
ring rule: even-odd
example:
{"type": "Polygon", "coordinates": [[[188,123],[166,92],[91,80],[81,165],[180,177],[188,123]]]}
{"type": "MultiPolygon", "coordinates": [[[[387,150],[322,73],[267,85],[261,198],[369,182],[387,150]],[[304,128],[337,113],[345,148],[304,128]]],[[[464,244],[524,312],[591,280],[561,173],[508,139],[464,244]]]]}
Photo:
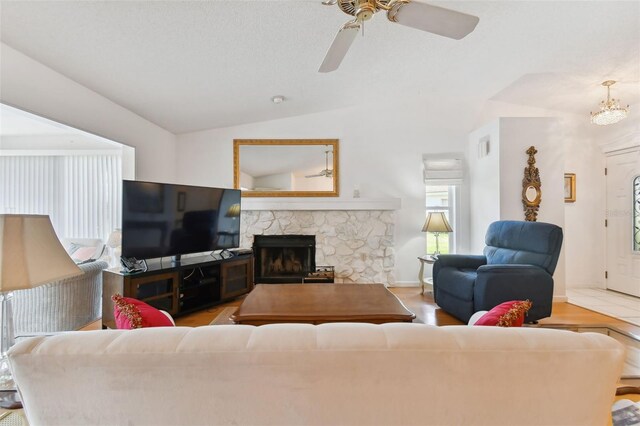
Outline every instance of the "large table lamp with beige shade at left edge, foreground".
{"type": "Polygon", "coordinates": [[[0,214],[0,407],[22,406],[7,358],[14,344],[13,292],[80,274],[49,216],[0,214]]]}

